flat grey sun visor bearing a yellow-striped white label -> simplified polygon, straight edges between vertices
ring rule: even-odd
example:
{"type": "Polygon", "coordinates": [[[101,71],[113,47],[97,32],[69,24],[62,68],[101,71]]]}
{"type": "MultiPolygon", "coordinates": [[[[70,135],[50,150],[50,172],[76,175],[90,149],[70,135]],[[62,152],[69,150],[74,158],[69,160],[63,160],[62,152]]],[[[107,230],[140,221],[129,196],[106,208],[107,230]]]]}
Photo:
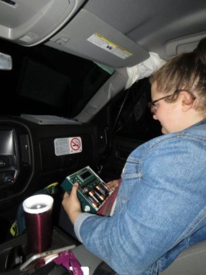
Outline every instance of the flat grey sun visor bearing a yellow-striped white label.
{"type": "Polygon", "coordinates": [[[149,57],[143,47],[84,8],[46,45],[115,68],[149,57]]]}

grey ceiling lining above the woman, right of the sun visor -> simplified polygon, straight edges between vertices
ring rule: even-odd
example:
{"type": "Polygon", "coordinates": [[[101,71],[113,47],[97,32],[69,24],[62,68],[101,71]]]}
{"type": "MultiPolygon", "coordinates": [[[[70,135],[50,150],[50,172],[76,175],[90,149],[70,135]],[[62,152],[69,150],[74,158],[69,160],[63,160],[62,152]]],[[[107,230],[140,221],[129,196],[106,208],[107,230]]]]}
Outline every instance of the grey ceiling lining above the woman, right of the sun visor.
{"type": "Polygon", "coordinates": [[[165,45],[173,41],[183,45],[187,43],[186,38],[190,41],[190,36],[206,35],[205,0],[92,0],[86,8],[163,59],[177,50],[166,52],[165,45]]]}

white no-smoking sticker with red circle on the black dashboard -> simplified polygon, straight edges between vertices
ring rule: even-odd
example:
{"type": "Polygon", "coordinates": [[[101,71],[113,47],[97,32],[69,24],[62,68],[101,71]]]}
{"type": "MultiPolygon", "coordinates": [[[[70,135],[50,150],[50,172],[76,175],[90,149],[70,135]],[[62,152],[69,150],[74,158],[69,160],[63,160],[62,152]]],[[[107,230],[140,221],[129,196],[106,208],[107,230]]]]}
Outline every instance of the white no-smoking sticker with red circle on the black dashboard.
{"type": "Polygon", "coordinates": [[[54,140],[55,155],[69,155],[82,152],[81,137],[62,137],[54,140]]]}

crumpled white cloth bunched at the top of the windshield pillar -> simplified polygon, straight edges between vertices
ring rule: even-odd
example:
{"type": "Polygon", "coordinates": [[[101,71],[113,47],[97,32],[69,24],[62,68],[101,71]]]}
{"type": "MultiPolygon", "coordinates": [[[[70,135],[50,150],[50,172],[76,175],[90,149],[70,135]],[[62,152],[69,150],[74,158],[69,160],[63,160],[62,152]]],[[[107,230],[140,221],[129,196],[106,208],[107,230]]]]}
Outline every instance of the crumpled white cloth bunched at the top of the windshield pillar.
{"type": "Polygon", "coordinates": [[[133,67],[127,67],[126,70],[128,74],[128,81],[126,83],[125,89],[131,87],[139,79],[150,76],[163,64],[165,64],[165,61],[163,61],[163,59],[161,59],[158,54],[150,52],[150,57],[146,61],[133,67]]]}

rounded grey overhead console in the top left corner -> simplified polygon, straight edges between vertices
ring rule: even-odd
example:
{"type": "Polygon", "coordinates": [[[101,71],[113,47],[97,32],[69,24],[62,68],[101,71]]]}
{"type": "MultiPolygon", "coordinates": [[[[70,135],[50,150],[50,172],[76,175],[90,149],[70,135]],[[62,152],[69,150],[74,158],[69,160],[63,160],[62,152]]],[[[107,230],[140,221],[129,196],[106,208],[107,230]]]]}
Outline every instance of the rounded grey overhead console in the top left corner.
{"type": "Polygon", "coordinates": [[[85,0],[0,0],[0,37],[32,46],[67,23],[85,0]]]}

